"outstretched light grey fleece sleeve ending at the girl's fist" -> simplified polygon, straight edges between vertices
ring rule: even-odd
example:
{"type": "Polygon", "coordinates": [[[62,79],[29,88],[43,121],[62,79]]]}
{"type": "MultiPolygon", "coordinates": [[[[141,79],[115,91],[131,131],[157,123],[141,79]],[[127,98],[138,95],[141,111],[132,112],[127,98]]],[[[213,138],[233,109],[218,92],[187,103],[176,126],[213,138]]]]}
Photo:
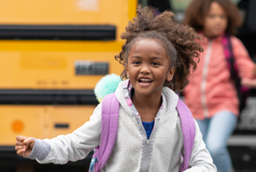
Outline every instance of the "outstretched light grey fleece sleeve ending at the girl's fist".
{"type": "Polygon", "coordinates": [[[68,161],[78,161],[86,158],[91,150],[100,143],[102,132],[102,104],[94,109],[90,121],[74,130],[72,134],[59,135],[56,138],[35,142],[29,157],[39,163],[65,164],[68,161]],[[48,151],[48,153],[46,152],[48,151]],[[44,152],[44,157],[40,152],[44,152]]]}

